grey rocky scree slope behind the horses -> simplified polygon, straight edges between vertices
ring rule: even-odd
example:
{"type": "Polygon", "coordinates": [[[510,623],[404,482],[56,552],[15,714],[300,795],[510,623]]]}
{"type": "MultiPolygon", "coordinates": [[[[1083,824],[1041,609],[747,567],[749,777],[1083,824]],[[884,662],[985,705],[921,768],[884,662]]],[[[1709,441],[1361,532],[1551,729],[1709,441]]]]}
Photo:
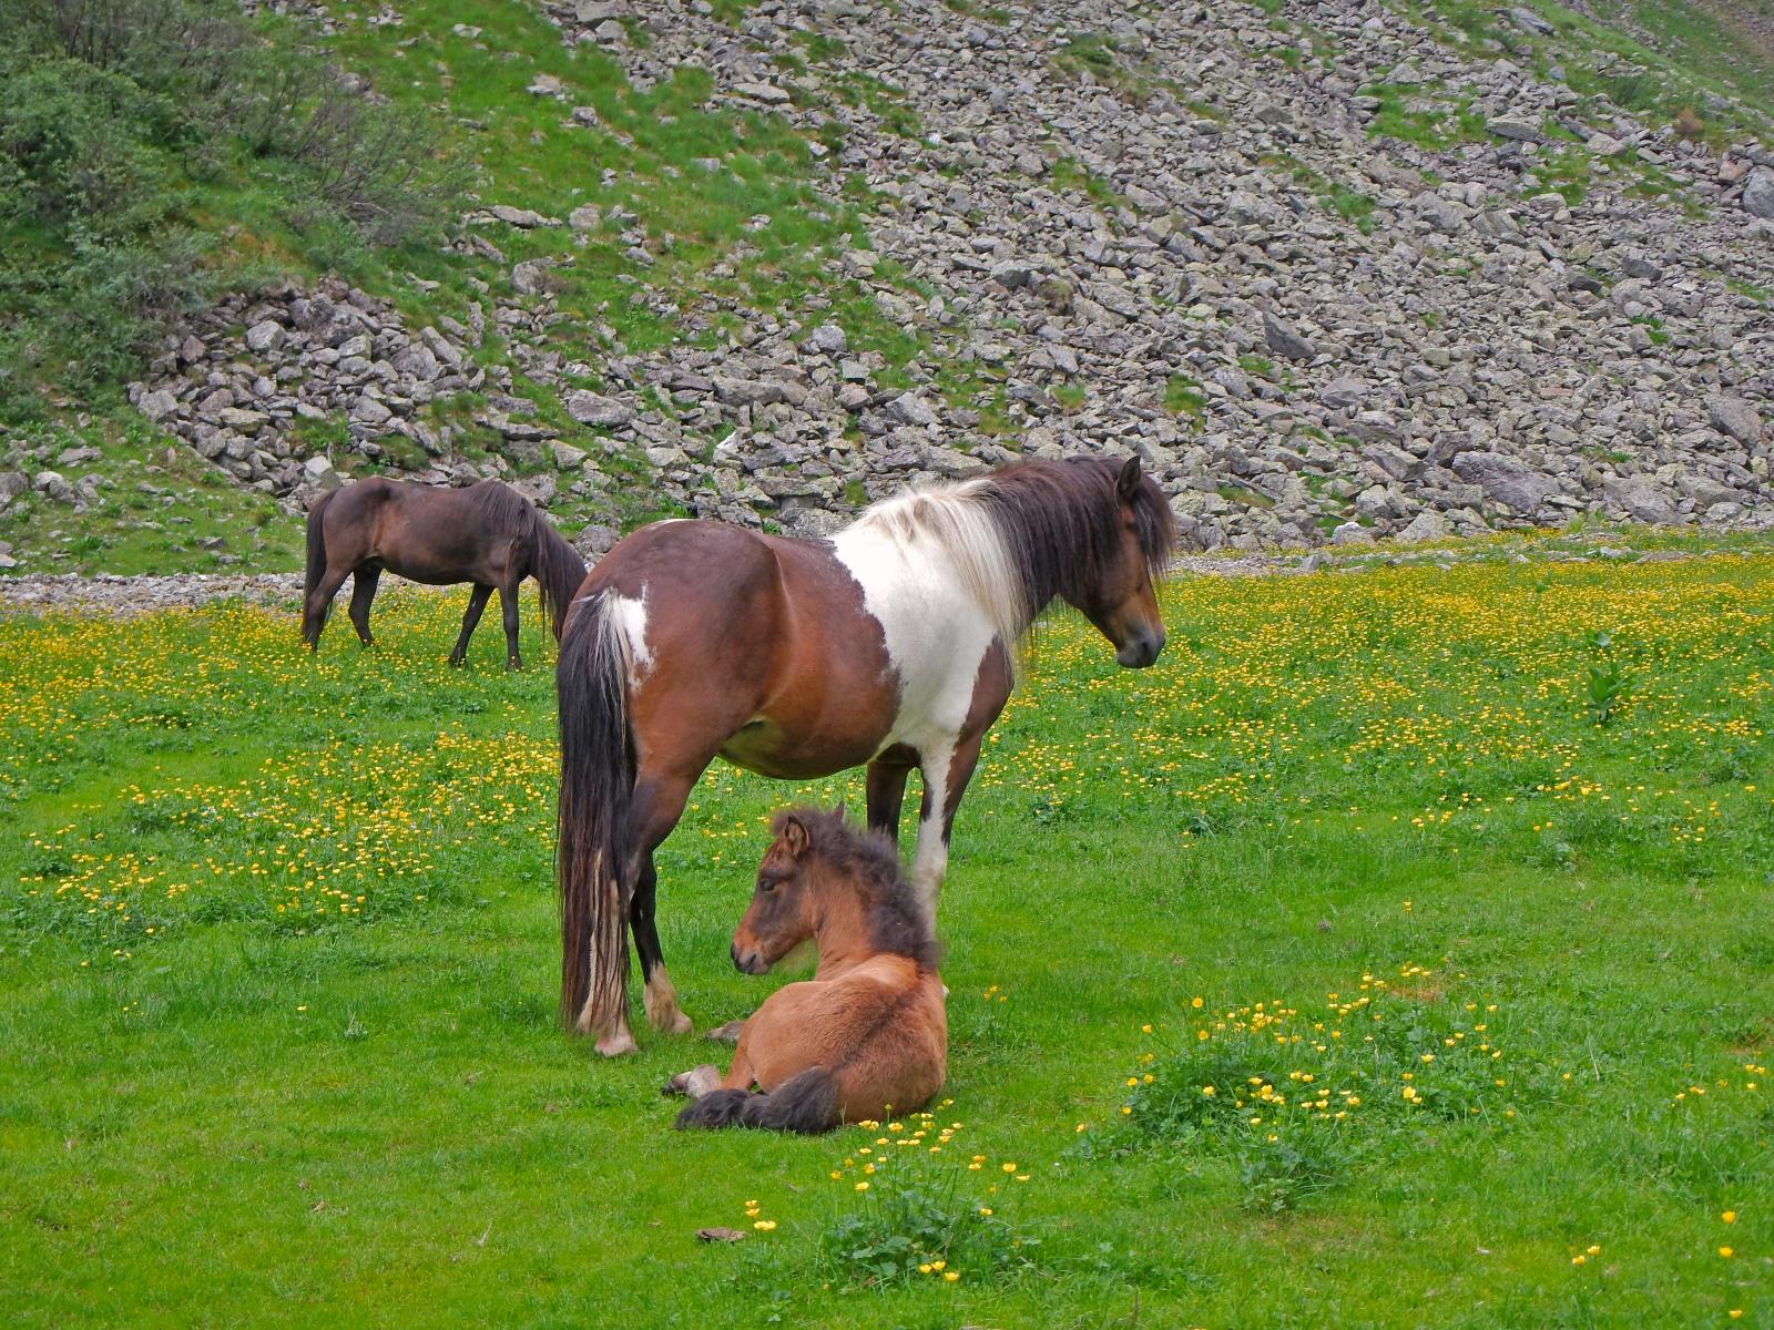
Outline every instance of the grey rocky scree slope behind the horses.
{"type": "MultiPolygon", "coordinates": [[[[374,458],[596,505],[621,454],[687,512],[821,532],[901,484],[1132,449],[1210,548],[1774,523],[1774,158],[1754,144],[1715,153],[1373,4],[706,11],[548,7],[635,85],[690,62],[715,99],[786,117],[834,200],[866,188],[869,234],[836,262],[917,339],[910,362],[852,353],[809,289],[736,309],[713,346],[687,316],[674,346],[603,356],[603,392],[571,388],[559,355],[525,353],[566,257],[514,264],[475,326],[413,330],[346,289],[231,307],[133,399],[291,504],[374,458]],[[573,429],[474,364],[486,323],[573,429]],[[491,456],[419,420],[461,392],[491,456]]],[[[578,113],[557,80],[530,94],[578,113]]],[[[461,243],[610,222],[522,202],[461,243]]],[[[617,222],[644,282],[646,218],[617,222]]]]}

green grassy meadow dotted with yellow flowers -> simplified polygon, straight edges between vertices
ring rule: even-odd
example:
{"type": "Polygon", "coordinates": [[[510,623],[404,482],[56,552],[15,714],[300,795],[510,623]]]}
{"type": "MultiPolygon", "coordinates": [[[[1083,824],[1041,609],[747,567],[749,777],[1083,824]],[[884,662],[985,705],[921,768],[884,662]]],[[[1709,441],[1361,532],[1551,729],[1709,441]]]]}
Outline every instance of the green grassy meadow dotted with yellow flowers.
{"type": "MultiPolygon", "coordinates": [[[[1141,674],[1045,626],[944,1098],[812,1140],[555,1030],[552,651],[449,670],[461,605],[0,619],[11,1323],[1774,1325],[1774,555],[1183,578],[1141,674]]],[[[699,1027],[779,982],[793,798],[860,778],[717,766],[660,855],[699,1027]]]]}

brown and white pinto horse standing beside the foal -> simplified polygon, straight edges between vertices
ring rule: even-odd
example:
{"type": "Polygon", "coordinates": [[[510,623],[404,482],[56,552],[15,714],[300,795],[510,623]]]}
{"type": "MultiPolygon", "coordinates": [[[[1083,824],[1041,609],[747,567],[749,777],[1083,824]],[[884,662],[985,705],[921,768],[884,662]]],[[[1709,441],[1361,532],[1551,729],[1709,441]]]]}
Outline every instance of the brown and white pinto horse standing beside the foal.
{"type": "Polygon", "coordinates": [[[869,828],[898,841],[924,777],[914,885],[935,915],[949,832],[1015,651],[1054,599],[1144,667],[1171,509],[1137,459],[1027,461],[867,507],[828,541],[660,521],[580,587],[561,695],[561,1014],[598,1052],[628,1030],[630,922],[648,1018],[690,1021],[660,963],[653,851],[715,759],[800,780],[867,766],[869,828]]]}

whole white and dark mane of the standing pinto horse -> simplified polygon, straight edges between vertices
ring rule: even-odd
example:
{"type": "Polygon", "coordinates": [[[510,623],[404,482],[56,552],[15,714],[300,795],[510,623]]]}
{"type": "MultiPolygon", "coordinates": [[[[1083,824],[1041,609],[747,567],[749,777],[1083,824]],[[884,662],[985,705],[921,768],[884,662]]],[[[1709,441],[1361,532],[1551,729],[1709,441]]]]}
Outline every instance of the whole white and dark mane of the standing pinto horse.
{"type": "MultiPolygon", "coordinates": [[[[1121,552],[1121,498],[1114,458],[1018,461],[956,484],[873,504],[859,528],[905,544],[942,544],[969,592],[1013,645],[1056,598],[1093,585],[1121,552]]],[[[1176,546],[1164,491],[1141,475],[1134,532],[1157,580],[1176,546]]]]}

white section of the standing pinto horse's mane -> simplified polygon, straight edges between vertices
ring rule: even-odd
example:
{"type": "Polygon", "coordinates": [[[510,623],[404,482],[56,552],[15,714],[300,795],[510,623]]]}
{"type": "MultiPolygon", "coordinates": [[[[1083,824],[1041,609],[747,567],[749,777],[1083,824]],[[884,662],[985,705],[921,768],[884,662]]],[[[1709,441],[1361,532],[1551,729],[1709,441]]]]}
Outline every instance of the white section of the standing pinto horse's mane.
{"type": "Polygon", "coordinates": [[[942,550],[962,587],[1015,656],[1017,642],[1029,631],[1029,596],[999,525],[977,502],[990,484],[990,477],[977,477],[883,498],[862,509],[852,530],[885,536],[907,552],[942,550]]]}

